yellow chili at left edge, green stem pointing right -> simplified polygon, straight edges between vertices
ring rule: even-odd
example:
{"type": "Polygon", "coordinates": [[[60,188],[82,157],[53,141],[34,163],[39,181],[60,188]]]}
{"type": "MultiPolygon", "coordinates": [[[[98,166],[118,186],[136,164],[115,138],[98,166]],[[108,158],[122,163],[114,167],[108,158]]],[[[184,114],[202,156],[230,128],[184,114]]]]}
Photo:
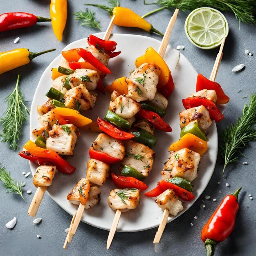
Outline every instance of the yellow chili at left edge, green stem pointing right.
{"type": "Polygon", "coordinates": [[[55,50],[56,49],[51,49],[44,52],[29,52],[28,49],[19,48],[13,49],[9,52],[0,52],[0,74],[25,65],[36,56],[55,50]]]}

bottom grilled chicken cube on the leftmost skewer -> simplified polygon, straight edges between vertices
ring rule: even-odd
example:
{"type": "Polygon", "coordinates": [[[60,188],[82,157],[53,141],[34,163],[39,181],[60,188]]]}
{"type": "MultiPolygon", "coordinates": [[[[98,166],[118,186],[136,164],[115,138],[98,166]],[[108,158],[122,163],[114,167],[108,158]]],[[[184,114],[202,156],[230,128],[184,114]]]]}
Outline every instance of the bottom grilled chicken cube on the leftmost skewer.
{"type": "Polygon", "coordinates": [[[51,186],[56,166],[43,164],[36,168],[36,173],[33,177],[35,186],[51,186]]]}

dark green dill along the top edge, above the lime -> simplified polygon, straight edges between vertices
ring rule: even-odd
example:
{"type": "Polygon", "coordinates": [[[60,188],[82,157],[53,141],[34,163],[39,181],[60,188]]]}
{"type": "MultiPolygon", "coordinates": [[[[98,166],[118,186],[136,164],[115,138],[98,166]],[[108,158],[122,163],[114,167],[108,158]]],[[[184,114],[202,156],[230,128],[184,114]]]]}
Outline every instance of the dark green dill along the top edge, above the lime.
{"type": "Polygon", "coordinates": [[[254,16],[256,13],[255,0],[157,0],[153,3],[148,3],[144,0],[144,4],[159,4],[162,7],[155,11],[150,11],[142,16],[143,18],[164,8],[169,11],[171,11],[172,8],[178,8],[181,11],[192,11],[204,6],[213,7],[220,11],[233,11],[239,24],[240,22],[250,25],[256,24],[256,18],[254,16]]]}

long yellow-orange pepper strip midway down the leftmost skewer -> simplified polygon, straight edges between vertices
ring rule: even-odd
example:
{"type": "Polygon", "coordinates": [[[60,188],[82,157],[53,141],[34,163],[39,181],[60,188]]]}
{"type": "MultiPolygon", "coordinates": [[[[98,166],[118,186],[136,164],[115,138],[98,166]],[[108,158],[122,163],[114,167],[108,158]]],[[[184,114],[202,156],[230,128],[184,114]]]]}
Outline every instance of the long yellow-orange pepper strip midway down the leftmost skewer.
{"type": "Polygon", "coordinates": [[[69,120],[76,127],[85,126],[92,122],[91,119],[84,117],[77,110],[71,108],[55,108],[54,113],[69,120]]]}

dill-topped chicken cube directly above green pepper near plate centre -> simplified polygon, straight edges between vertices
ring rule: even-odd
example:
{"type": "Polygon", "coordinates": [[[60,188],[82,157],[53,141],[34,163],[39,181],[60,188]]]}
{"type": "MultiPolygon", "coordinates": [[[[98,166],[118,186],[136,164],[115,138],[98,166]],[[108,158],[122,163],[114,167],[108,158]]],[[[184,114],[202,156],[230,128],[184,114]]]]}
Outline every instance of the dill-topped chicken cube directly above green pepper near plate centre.
{"type": "Polygon", "coordinates": [[[122,118],[134,117],[140,108],[141,105],[126,94],[120,95],[115,101],[109,103],[109,109],[122,118]]]}

